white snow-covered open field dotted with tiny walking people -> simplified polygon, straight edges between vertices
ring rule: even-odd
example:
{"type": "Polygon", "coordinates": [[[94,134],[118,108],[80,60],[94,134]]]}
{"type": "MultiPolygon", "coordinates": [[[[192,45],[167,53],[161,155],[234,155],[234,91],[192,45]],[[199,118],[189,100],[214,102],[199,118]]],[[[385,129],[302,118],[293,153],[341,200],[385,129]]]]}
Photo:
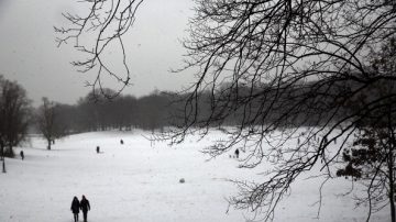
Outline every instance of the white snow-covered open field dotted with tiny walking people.
{"type": "MultiPolygon", "coordinates": [[[[15,148],[16,154],[23,148],[25,159],[7,158],[8,173],[0,174],[0,222],[72,222],[72,199],[81,195],[91,203],[89,222],[251,221],[250,212],[228,211],[227,198],[237,191],[228,179],[260,181],[260,169],[238,168],[229,155],[208,160],[200,149],[221,136],[219,132],[200,142],[189,137],[176,147],[151,144],[143,134],[150,136],[141,131],[72,135],[52,151],[45,149],[45,141],[32,137],[15,148]],[[96,153],[97,146],[102,153],[96,153]]],[[[343,178],[324,186],[318,219],[314,203],[319,182],[296,181],[275,221],[365,221],[367,209],[354,209],[351,198],[336,195],[350,188],[343,178]]],[[[389,221],[387,210],[372,221],[389,221]]]]}

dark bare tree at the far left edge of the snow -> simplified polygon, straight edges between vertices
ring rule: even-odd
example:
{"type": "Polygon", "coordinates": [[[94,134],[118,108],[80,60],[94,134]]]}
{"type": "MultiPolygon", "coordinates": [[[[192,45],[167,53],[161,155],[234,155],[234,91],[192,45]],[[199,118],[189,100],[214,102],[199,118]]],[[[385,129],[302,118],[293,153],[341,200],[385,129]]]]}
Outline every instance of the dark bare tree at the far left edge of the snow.
{"type": "Polygon", "coordinates": [[[25,138],[30,121],[30,100],[15,81],[0,76],[0,148],[6,173],[4,156],[13,157],[12,147],[25,138]]]}

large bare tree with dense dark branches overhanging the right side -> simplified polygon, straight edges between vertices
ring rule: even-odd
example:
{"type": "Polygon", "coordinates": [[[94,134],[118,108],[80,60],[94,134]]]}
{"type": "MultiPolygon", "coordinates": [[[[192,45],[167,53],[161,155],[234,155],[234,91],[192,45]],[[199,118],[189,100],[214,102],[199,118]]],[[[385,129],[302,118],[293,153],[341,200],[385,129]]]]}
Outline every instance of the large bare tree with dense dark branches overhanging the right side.
{"type": "MultiPolygon", "coordinates": [[[[113,8],[107,8],[111,13],[97,13],[105,10],[98,5],[109,1],[84,2],[92,5],[89,16],[67,16],[79,27],[86,27],[91,18],[106,24],[103,27],[123,21],[114,19],[113,8]]],[[[131,4],[127,7],[134,15],[138,4],[123,2],[131,4]]],[[[351,98],[378,87],[378,82],[396,80],[393,71],[376,69],[370,57],[381,52],[381,43],[389,42],[395,34],[396,3],[392,0],[195,0],[195,3],[190,36],[185,41],[186,67],[179,71],[198,70],[197,80],[189,89],[184,124],[172,132],[173,143],[183,142],[195,129],[205,136],[213,125],[241,115],[237,129],[224,131],[228,140],[206,152],[217,156],[239,147],[246,152],[242,167],[255,167],[263,160],[275,166],[261,182],[239,182],[240,193],[230,200],[235,208],[261,209],[264,220],[270,220],[293,181],[305,171],[321,165],[323,181],[334,176],[331,166],[359,130],[359,123],[373,116],[384,103],[389,107],[388,112],[396,110],[396,95],[391,92],[372,98],[362,109],[346,111],[351,98]],[[202,119],[198,118],[199,101],[207,91],[211,112],[202,119]],[[330,149],[336,141],[336,149],[330,149]],[[287,142],[296,143],[286,146],[287,142]]],[[[86,30],[76,31],[79,36],[86,30]]],[[[112,33],[119,36],[124,32],[112,33]]],[[[101,34],[97,36],[98,43],[108,40],[101,34]]],[[[91,55],[97,58],[101,52],[99,47],[91,55]]]]}

